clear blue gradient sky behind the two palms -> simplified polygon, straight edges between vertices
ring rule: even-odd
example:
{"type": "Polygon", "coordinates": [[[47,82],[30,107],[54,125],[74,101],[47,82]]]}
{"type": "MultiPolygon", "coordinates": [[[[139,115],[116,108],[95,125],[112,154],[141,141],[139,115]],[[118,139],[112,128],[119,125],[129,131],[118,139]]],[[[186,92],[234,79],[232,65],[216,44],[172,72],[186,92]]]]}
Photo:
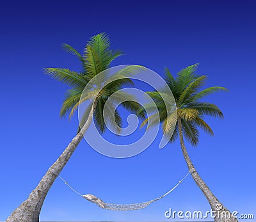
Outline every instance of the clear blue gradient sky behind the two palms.
{"type": "MultiPolygon", "coordinates": [[[[74,137],[77,116],[60,120],[64,84],[43,74],[45,67],[79,70],[63,52],[67,43],[80,52],[88,38],[108,33],[113,49],[125,56],[113,65],[139,64],[163,75],[200,62],[206,86],[228,93],[207,97],[225,115],[207,118],[211,138],[188,152],[198,173],[231,211],[254,214],[255,192],[255,3],[253,1],[4,1],[1,4],[0,220],[6,219],[74,137]]],[[[179,143],[159,150],[159,134],[143,153],[127,159],[98,154],[82,141],[62,177],[80,193],[106,202],[132,203],[156,198],[187,172],[179,143]]],[[[164,212],[209,210],[192,178],[172,194],[131,212],[99,209],[54,182],[42,221],[164,221],[164,212]]],[[[170,219],[169,219],[170,220],[170,219]]]]}

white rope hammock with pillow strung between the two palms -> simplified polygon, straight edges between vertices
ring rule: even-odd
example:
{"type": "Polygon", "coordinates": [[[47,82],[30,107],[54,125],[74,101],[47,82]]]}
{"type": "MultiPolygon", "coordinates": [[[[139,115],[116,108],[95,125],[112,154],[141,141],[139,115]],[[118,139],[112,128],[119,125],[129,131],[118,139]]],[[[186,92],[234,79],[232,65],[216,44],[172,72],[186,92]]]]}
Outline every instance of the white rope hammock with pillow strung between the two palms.
{"type": "Polygon", "coordinates": [[[193,170],[189,170],[188,173],[181,180],[179,180],[179,182],[172,189],[170,189],[170,191],[168,191],[167,193],[163,194],[162,196],[159,196],[159,198],[156,198],[154,200],[149,200],[147,202],[131,203],[131,204],[105,203],[103,200],[100,200],[100,198],[97,198],[97,196],[94,196],[93,194],[85,194],[85,195],[83,195],[81,193],[78,193],[73,187],[71,187],[68,184],[68,182],[66,180],[64,180],[62,177],[60,177],[60,175],[58,175],[58,173],[56,173],[56,171],[54,169],[49,168],[49,170],[52,173],[54,173],[55,175],[57,175],[63,182],[65,182],[65,184],[70,189],[72,189],[72,191],[74,191],[76,194],[78,194],[79,196],[82,196],[83,198],[85,198],[86,200],[88,200],[88,201],[90,201],[92,203],[97,204],[102,209],[106,209],[106,210],[139,210],[139,209],[143,209],[143,208],[147,207],[148,205],[150,205],[150,203],[156,202],[157,200],[160,200],[164,196],[166,196],[169,193],[171,193],[177,186],[179,186],[179,184],[186,177],[188,177],[189,173],[193,173],[195,171],[195,168],[193,168],[193,170]]]}

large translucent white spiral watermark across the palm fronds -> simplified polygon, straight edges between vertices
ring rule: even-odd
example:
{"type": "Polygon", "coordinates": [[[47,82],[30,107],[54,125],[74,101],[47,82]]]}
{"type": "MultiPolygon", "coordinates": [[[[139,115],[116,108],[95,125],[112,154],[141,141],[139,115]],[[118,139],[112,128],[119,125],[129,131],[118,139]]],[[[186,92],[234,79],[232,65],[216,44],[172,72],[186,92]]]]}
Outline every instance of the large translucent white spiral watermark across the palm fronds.
{"type": "MultiPolygon", "coordinates": [[[[136,139],[136,141],[120,145],[104,138],[98,131],[99,125],[97,125],[95,121],[92,121],[88,130],[84,133],[84,139],[86,139],[87,143],[94,150],[108,157],[125,158],[140,154],[154,141],[161,125],[157,109],[159,104],[156,104],[156,101],[154,101],[146,91],[136,88],[135,86],[125,88],[122,86],[118,88],[118,84],[122,84],[122,80],[124,79],[131,79],[132,81],[136,81],[136,83],[141,83],[143,84],[144,89],[148,86],[147,91],[156,90],[157,96],[159,96],[159,101],[161,100],[163,103],[161,105],[166,107],[166,121],[176,123],[175,99],[168,84],[166,84],[166,81],[164,81],[159,74],[149,68],[138,65],[121,65],[104,70],[103,72],[100,72],[100,74],[95,75],[95,77],[86,84],[86,87],[83,90],[78,107],[80,127],[83,127],[84,120],[88,118],[88,113],[94,102],[97,106],[104,106],[103,112],[97,113],[96,110],[94,115],[97,116],[94,117],[102,118],[108,128],[108,133],[111,132],[111,134],[116,134],[118,135],[118,138],[123,137],[126,139],[127,136],[133,134],[138,136],[138,134],[141,133],[138,124],[140,120],[138,119],[138,116],[134,114],[127,116],[128,126],[124,129],[121,129],[120,125],[116,123],[116,109],[120,105],[125,104],[125,102],[136,102],[140,104],[147,113],[147,116],[152,117],[148,119],[147,124],[154,126],[148,128],[145,132],[143,131],[143,136],[136,139]],[[116,91],[116,89],[118,90],[116,91]],[[110,95],[104,94],[109,93],[109,91],[111,92],[110,95]]],[[[159,148],[163,148],[170,140],[175,129],[175,124],[173,125],[174,127],[168,129],[168,136],[163,136],[161,139],[159,148]]],[[[132,139],[134,139],[134,137],[132,139]]]]}

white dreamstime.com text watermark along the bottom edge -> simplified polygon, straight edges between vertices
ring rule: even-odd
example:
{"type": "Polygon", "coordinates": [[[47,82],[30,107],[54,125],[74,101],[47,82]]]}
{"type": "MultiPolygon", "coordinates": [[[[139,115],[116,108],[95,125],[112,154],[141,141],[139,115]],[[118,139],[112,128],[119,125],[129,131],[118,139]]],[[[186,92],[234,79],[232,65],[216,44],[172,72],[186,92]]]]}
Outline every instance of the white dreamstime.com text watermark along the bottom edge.
{"type": "Polygon", "coordinates": [[[182,211],[182,210],[172,210],[171,208],[164,212],[164,217],[168,219],[209,219],[209,218],[236,218],[236,219],[253,219],[253,214],[239,214],[236,210],[229,212],[228,210],[223,209],[223,206],[220,203],[215,205],[215,210],[207,210],[202,212],[200,210],[194,211],[182,211]]]}

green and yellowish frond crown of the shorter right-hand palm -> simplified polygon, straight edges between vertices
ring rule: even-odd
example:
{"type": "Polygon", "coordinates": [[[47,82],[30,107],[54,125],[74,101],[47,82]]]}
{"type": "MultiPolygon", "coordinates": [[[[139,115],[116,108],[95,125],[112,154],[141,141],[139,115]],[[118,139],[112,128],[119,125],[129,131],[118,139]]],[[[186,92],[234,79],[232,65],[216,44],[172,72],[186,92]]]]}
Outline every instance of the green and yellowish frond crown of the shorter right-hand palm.
{"type": "MultiPolygon", "coordinates": [[[[227,90],[224,87],[213,86],[200,90],[204,86],[206,75],[195,75],[195,70],[198,67],[198,63],[182,69],[177,77],[174,78],[168,68],[165,69],[165,81],[168,84],[170,90],[172,90],[173,97],[177,106],[177,119],[181,120],[182,132],[185,138],[191,143],[191,145],[197,145],[199,139],[198,128],[203,129],[210,135],[213,135],[211,127],[204,121],[204,116],[214,116],[223,118],[223,113],[220,109],[209,102],[202,102],[206,95],[214,93],[220,90],[227,90]]],[[[160,122],[163,123],[163,132],[168,136],[168,132],[173,132],[170,136],[170,142],[174,142],[178,138],[178,124],[175,121],[172,127],[175,127],[174,131],[166,130],[170,125],[166,125],[166,106],[164,104],[161,95],[157,91],[148,91],[150,97],[156,103],[160,122]]],[[[148,117],[141,125],[145,125],[150,117],[148,117]]],[[[150,126],[150,124],[149,124],[150,126]]]]}

